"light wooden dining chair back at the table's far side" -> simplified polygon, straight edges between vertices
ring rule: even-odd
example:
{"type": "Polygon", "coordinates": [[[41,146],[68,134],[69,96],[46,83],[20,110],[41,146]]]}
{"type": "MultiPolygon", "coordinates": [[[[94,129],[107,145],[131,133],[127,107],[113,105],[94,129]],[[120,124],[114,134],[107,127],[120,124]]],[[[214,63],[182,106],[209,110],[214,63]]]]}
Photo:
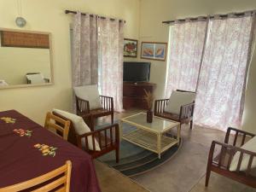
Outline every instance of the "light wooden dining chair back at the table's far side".
{"type": "Polygon", "coordinates": [[[44,127],[48,130],[55,129],[58,136],[62,136],[64,140],[67,141],[70,120],[61,119],[58,116],[48,112],[46,114],[44,127]]]}

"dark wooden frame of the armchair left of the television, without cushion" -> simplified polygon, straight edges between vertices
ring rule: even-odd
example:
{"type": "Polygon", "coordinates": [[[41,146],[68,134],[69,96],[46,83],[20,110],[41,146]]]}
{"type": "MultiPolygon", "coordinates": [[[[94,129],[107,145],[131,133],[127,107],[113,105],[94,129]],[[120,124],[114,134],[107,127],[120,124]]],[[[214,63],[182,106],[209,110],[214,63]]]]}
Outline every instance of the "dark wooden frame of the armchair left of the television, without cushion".
{"type": "Polygon", "coordinates": [[[111,124],[113,124],[113,97],[100,96],[100,99],[103,108],[90,109],[90,101],[76,96],[77,114],[89,125],[91,131],[94,131],[95,120],[99,117],[111,115],[111,124]]]}

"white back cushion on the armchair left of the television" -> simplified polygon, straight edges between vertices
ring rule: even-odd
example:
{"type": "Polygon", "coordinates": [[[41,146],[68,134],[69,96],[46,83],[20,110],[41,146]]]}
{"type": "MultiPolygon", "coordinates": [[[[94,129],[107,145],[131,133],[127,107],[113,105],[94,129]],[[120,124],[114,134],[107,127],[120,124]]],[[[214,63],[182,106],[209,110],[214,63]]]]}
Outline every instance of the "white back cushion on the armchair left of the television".
{"type": "Polygon", "coordinates": [[[102,108],[102,102],[96,84],[85,85],[73,88],[75,95],[90,103],[90,109],[102,108]]]}

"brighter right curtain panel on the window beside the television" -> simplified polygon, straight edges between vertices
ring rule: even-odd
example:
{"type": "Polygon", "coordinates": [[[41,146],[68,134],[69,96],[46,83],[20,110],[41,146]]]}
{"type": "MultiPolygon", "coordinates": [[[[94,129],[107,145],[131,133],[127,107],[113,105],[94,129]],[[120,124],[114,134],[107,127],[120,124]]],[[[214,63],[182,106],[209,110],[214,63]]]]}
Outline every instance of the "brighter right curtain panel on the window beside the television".
{"type": "Polygon", "coordinates": [[[113,96],[113,108],[123,109],[124,22],[109,18],[98,21],[101,44],[101,79],[103,96],[113,96]]]}

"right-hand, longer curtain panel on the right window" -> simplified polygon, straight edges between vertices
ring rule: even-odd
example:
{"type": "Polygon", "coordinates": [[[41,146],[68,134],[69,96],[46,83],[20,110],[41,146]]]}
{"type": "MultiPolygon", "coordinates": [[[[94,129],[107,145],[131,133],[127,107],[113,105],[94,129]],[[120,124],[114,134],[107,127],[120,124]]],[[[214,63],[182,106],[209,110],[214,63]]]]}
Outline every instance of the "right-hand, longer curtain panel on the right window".
{"type": "Polygon", "coordinates": [[[241,127],[252,16],[210,20],[195,101],[195,123],[241,127]]]}

